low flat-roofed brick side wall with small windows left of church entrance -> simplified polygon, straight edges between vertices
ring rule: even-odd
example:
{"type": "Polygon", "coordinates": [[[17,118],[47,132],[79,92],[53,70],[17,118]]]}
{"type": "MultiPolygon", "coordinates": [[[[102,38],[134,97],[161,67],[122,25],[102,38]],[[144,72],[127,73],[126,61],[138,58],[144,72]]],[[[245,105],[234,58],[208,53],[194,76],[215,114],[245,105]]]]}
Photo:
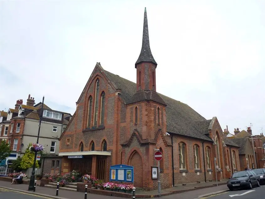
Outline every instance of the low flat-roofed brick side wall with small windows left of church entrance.
{"type": "Polygon", "coordinates": [[[62,157],[61,156],[43,157],[41,165],[42,166],[40,169],[40,173],[42,174],[42,176],[50,173],[61,173],[62,157]],[[55,163],[54,166],[52,166],[53,161],[55,163]],[[58,167],[56,165],[56,161],[59,161],[58,167]]]}

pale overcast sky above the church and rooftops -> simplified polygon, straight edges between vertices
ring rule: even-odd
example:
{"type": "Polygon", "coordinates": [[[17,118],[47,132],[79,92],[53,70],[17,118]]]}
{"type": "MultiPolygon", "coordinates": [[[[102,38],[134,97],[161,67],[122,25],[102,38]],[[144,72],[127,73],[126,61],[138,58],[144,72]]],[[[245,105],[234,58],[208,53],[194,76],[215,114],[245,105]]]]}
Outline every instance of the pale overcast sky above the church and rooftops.
{"type": "Polygon", "coordinates": [[[0,110],[28,94],[74,113],[97,62],[136,82],[144,8],[157,92],[224,129],[265,132],[265,2],[1,1],[0,110]]]}

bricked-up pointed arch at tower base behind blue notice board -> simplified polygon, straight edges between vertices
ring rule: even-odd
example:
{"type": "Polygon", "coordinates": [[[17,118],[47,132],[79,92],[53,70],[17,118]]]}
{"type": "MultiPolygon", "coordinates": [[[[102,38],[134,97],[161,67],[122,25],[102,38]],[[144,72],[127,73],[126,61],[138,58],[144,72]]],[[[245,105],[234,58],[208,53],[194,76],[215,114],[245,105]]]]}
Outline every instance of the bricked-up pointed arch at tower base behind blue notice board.
{"type": "Polygon", "coordinates": [[[143,187],[143,162],[142,157],[137,151],[134,151],[129,158],[130,166],[134,168],[134,185],[143,187]]]}

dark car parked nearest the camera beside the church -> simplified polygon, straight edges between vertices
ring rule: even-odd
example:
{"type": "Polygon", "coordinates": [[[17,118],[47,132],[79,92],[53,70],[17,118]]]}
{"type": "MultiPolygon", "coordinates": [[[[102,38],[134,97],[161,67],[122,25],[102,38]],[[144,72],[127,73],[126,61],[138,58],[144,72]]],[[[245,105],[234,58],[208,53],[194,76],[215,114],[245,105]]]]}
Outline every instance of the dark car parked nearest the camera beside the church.
{"type": "Polygon", "coordinates": [[[260,186],[257,175],[254,175],[252,171],[236,172],[227,181],[227,187],[230,191],[239,188],[252,189],[252,186],[260,186]]]}

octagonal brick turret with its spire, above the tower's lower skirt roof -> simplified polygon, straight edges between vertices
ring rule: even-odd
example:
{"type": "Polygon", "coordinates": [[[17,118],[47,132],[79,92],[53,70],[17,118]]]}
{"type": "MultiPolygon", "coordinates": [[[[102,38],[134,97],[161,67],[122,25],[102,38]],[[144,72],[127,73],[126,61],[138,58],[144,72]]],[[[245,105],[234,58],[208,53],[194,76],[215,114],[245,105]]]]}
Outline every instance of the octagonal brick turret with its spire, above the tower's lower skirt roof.
{"type": "Polygon", "coordinates": [[[137,90],[156,91],[156,66],[157,63],[150,49],[147,13],[145,8],[142,48],[135,62],[135,68],[137,69],[137,90]]]}

